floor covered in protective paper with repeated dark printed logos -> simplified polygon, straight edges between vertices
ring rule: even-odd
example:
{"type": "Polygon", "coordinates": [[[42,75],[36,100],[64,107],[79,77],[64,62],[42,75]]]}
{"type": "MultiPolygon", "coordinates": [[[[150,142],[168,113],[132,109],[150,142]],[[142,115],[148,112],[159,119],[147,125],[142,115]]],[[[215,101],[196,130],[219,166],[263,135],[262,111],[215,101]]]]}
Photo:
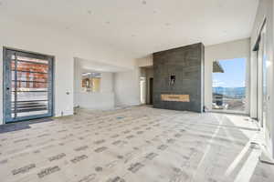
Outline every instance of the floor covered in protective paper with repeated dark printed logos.
{"type": "Polygon", "coordinates": [[[273,181],[246,116],[135,106],[0,126],[0,181],[273,181]]]}

